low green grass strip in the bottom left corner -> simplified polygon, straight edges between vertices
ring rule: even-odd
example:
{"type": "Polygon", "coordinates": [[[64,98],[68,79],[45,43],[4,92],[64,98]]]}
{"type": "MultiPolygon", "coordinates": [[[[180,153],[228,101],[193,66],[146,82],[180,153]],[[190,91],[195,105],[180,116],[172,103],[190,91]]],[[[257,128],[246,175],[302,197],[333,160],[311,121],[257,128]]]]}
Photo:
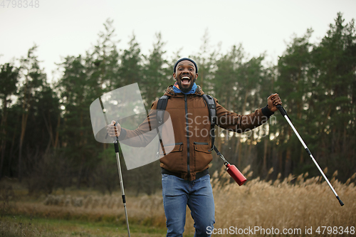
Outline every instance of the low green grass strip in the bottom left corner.
{"type": "MultiPolygon", "coordinates": [[[[130,220],[129,220],[130,221],[130,220]]],[[[165,236],[165,228],[130,225],[131,236],[165,236]]],[[[2,216],[0,236],[128,236],[126,225],[114,223],[86,222],[32,216],[2,216]]]]}

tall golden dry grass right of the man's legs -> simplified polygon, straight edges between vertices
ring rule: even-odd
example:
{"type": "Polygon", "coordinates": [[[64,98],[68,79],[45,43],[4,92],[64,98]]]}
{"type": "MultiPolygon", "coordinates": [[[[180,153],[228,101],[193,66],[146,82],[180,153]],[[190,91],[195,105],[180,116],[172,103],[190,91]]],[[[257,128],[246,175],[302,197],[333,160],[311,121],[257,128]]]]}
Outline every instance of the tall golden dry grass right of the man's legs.
{"type": "MultiPolygon", "coordinates": [[[[235,231],[229,231],[230,235],[220,236],[231,236],[231,233],[237,233],[238,229],[242,231],[262,228],[269,229],[270,233],[272,228],[278,228],[278,231],[284,228],[300,229],[302,236],[310,227],[313,228],[314,236],[318,236],[315,233],[318,226],[342,226],[344,229],[348,226],[350,231],[351,226],[356,227],[356,188],[353,182],[356,175],[347,180],[346,184],[340,184],[336,175],[337,173],[330,181],[345,206],[340,206],[323,177],[307,179],[308,174],[301,174],[297,178],[290,175],[286,179],[276,181],[257,178],[239,186],[226,181],[229,179],[226,172],[216,172],[211,179],[216,208],[214,228],[216,231],[219,228],[235,231]]],[[[190,222],[192,224],[192,221],[190,222]]],[[[189,231],[194,232],[192,228],[189,231]]],[[[264,235],[258,231],[249,233],[269,236],[267,232],[268,230],[264,235]]],[[[333,233],[329,236],[333,236],[333,233]]]]}

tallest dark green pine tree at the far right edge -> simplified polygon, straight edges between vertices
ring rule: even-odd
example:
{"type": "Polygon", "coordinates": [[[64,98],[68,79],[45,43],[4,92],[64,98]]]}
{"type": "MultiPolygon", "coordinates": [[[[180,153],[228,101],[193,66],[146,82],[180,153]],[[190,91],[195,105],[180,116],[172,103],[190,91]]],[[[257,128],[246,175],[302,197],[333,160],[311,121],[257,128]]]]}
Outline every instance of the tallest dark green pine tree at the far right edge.
{"type": "Polygon", "coordinates": [[[355,172],[355,21],[338,13],[322,41],[313,48],[310,69],[310,122],[318,135],[317,158],[322,165],[343,169],[343,179],[355,172]],[[345,168],[344,168],[345,169],[345,168]]]}

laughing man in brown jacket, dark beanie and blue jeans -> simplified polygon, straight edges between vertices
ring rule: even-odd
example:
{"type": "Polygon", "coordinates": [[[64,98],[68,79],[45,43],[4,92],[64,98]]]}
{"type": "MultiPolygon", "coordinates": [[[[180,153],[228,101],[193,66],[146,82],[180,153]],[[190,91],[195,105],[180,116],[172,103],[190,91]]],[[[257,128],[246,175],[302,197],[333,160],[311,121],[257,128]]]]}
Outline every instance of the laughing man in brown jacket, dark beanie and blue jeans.
{"type": "MultiPolygon", "coordinates": [[[[213,228],[214,197],[208,172],[211,155],[211,134],[209,110],[201,97],[204,92],[195,83],[198,67],[194,60],[181,58],[175,63],[174,85],[167,88],[164,95],[169,96],[166,111],[172,119],[174,144],[169,153],[160,152],[162,167],[162,196],[164,213],[167,218],[167,237],[183,236],[187,205],[194,219],[196,237],[210,236],[207,228],[213,228]]],[[[227,88],[226,88],[227,89],[227,88]]],[[[246,132],[266,122],[281,105],[278,94],[268,97],[268,105],[250,115],[237,115],[229,112],[216,101],[216,125],[234,132],[246,132]]],[[[152,103],[149,117],[137,130],[125,130],[112,121],[108,125],[110,137],[119,140],[130,139],[149,132],[157,127],[155,110],[157,100],[152,103]]]]}

